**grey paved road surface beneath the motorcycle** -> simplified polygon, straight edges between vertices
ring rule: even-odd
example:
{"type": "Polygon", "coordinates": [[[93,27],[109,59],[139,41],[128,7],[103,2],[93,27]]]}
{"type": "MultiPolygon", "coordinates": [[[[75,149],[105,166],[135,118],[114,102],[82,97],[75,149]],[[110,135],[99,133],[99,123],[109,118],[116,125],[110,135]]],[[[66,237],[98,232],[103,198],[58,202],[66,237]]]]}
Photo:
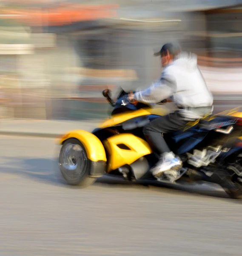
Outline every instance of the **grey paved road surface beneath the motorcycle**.
{"type": "Polygon", "coordinates": [[[54,140],[0,139],[0,255],[241,256],[242,204],[221,189],[74,189],[54,171],[54,140]]]}

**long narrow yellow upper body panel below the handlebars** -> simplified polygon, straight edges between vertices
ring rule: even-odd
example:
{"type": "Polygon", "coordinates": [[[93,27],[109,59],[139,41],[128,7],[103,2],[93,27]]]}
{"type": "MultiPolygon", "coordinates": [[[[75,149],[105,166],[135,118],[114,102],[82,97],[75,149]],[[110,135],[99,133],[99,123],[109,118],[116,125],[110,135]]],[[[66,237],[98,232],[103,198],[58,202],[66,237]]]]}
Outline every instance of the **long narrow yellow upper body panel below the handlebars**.
{"type": "Polygon", "coordinates": [[[158,115],[164,116],[169,112],[163,108],[142,108],[136,111],[130,111],[128,113],[121,113],[114,115],[111,119],[106,120],[103,122],[99,128],[106,128],[111,127],[113,125],[118,125],[122,122],[125,122],[129,119],[138,117],[138,116],[146,116],[146,115],[158,115]]]}

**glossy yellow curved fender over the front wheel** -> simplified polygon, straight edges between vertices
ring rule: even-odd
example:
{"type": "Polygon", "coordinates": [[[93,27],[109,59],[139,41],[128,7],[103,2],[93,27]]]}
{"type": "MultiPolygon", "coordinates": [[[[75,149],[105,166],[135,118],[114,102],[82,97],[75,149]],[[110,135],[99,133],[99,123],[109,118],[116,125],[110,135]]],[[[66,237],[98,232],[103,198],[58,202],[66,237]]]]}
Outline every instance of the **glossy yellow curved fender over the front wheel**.
{"type": "Polygon", "coordinates": [[[71,131],[64,135],[60,139],[59,143],[62,144],[65,140],[70,138],[76,138],[77,140],[80,140],[81,143],[83,143],[87,157],[91,161],[107,161],[105,149],[101,141],[94,134],[83,130],[71,131]]]}

